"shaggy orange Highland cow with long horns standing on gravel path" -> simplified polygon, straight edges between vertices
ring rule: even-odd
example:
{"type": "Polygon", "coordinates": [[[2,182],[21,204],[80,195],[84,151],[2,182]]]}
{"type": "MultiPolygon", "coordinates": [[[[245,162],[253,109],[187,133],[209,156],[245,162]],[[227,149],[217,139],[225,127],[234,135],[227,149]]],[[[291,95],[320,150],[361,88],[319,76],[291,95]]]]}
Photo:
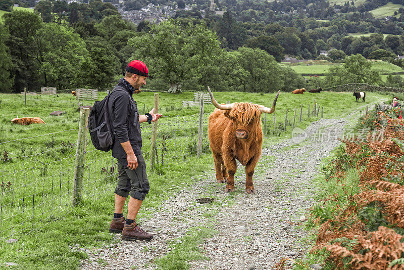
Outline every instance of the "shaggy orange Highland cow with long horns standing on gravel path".
{"type": "Polygon", "coordinates": [[[226,183],[225,192],[234,191],[234,174],[237,170],[236,159],[245,166],[245,191],[256,193],[252,185],[252,175],[261,157],[263,134],[261,114],[274,113],[276,94],[272,107],[235,102],[219,104],[208,87],[212,103],[217,109],[209,116],[208,136],[215,162],[216,181],[226,183]]]}

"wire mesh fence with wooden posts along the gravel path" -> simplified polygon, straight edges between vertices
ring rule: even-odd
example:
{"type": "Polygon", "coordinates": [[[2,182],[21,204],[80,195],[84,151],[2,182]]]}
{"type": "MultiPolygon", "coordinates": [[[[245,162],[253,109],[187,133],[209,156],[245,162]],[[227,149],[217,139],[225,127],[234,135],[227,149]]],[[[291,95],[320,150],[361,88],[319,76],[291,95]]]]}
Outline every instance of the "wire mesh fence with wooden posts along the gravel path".
{"type": "MultiPolygon", "coordinates": [[[[315,108],[305,109],[305,118],[318,115],[319,109],[315,108]]],[[[284,132],[286,126],[301,121],[304,113],[302,105],[298,110],[296,107],[293,124],[287,112],[282,122],[276,122],[275,117],[272,121],[271,115],[267,118],[264,114],[264,136],[284,132]]],[[[202,108],[199,114],[160,121],[155,130],[153,124],[141,125],[147,172],[152,168],[171,169],[173,164],[190,162],[201,153],[210,153],[208,116],[202,108]]],[[[86,129],[81,124],[76,129],[0,143],[0,243],[12,243],[66,216],[81,200],[111,196],[117,184],[117,161],[111,152],[93,147],[86,129]],[[83,128],[84,136],[77,139],[83,128]]]]}

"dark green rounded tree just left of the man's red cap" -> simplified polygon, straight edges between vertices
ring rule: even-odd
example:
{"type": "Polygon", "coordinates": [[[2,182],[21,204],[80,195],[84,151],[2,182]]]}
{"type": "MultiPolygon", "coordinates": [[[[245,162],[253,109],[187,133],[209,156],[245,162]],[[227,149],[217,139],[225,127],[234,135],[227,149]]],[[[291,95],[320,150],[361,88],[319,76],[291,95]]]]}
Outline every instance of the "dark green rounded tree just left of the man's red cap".
{"type": "Polygon", "coordinates": [[[91,37],[86,42],[89,55],[79,65],[75,83],[97,89],[106,89],[116,83],[114,77],[123,74],[115,49],[101,37],[91,37]]]}

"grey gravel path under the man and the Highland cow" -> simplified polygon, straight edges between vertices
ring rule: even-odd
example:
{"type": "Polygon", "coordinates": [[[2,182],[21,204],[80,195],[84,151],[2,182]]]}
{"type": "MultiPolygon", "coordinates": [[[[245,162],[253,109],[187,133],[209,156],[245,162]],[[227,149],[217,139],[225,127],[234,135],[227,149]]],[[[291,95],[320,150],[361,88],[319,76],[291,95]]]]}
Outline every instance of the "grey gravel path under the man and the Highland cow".
{"type": "Polygon", "coordinates": [[[343,128],[352,115],[312,123],[306,129],[309,139],[298,145],[289,139],[264,148],[254,175],[255,195],[244,192],[245,172],[240,164],[232,195],[224,193],[225,184],[216,183],[214,171],[185,179],[193,186],[181,187],[175,197],[149,209],[154,214],[143,222],[143,228],[155,234],[152,241],[121,241],[120,235],[114,234],[117,244],[96,250],[77,245],[72,248],[89,254],[81,269],[155,268],[152,260],[170,251],[168,242],[180,240],[195,226],[217,232],[199,245],[209,259],[190,261],[191,269],[270,269],[283,256],[301,258],[308,250],[302,240],[308,233],[300,218],[315,203],[318,189],[312,179],[319,174],[320,159],[339,144],[335,138],[317,140],[316,134],[318,130],[328,134],[343,128]],[[207,197],[216,200],[196,202],[207,197]]]}

